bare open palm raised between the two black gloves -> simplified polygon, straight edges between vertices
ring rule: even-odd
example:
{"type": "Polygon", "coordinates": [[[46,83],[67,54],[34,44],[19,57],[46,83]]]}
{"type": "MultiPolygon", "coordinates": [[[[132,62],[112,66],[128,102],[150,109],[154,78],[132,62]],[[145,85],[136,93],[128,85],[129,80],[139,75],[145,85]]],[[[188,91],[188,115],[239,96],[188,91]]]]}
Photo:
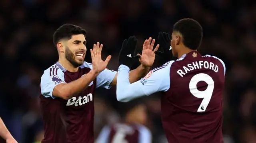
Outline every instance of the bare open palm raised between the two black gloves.
{"type": "Polygon", "coordinates": [[[144,41],[142,55],[140,55],[139,60],[140,60],[140,63],[145,67],[151,67],[154,63],[154,60],[156,57],[155,51],[157,51],[159,48],[159,45],[156,45],[156,48],[153,50],[155,41],[156,40],[155,39],[152,40],[151,37],[144,41]]]}

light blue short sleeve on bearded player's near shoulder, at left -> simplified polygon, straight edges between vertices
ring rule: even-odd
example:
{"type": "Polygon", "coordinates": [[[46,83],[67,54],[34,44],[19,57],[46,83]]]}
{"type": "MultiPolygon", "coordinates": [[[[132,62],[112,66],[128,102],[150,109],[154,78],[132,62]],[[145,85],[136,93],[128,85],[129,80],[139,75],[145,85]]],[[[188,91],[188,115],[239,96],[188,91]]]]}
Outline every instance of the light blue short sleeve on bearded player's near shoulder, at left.
{"type": "Polygon", "coordinates": [[[52,92],[54,87],[61,83],[66,83],[64,80],[64,72],[62,72],[62,70],[52,67],[45,70],[41,77],[41,94],[47,98],[56,98],[52,95],[52,92]]]}

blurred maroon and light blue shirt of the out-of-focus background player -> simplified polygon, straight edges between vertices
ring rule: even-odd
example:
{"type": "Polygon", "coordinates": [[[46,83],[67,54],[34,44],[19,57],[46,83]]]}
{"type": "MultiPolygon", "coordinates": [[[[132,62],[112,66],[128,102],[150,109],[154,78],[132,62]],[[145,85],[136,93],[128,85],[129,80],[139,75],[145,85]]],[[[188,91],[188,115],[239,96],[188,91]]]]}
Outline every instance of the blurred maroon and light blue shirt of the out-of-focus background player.
{"type": "Polygon", "coordinates": [[[102,129],[96,143],[151,143],[150,130],[140,124],[116,123],[102,129]]]}

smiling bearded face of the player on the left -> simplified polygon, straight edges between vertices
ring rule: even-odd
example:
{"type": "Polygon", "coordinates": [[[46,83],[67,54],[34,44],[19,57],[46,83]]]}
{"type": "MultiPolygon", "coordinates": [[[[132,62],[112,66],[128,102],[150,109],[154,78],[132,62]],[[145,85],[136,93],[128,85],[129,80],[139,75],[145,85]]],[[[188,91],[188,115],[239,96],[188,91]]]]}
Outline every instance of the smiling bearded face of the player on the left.
{"type": "Polygon", "coordinates": [[[83,34],[72,35],[65,44],[65,57],[74,65],[79,67],[84,63],[86,53],[86,39],[83,34]]]}

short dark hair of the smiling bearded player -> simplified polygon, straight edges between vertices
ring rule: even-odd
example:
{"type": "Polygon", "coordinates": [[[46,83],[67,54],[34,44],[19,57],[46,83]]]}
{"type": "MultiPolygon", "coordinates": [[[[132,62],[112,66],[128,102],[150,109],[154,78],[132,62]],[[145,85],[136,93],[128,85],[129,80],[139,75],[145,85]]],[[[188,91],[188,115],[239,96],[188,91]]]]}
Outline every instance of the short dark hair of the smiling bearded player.
{"type": "Polygon", "coordinates": [[[73,24],[61,25],[53,34],[53,44],[56,46],[61,39],[71,39],[72,35],[84,34],[85,29],[73,24]]]}

